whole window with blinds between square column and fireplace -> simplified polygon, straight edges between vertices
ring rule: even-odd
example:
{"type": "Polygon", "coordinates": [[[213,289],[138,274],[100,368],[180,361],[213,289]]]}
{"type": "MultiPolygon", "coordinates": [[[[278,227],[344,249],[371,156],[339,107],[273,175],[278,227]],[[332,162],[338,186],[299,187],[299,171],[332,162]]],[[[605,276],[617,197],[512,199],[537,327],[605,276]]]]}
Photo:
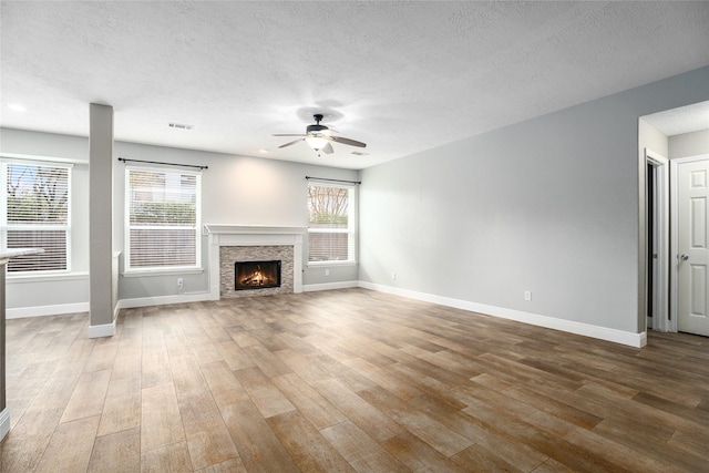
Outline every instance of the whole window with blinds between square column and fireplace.
{"type": "Polygon", "coordinates": [[[196,269],[202,175],[126,167],[125,270],[196,269]]]}

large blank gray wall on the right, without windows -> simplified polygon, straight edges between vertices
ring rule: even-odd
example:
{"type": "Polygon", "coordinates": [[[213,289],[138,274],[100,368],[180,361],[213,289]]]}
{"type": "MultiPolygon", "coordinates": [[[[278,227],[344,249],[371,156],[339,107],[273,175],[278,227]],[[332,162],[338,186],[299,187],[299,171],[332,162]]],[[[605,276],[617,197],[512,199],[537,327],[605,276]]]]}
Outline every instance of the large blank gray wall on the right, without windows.
{"type": "Polygon", "coordinates": [[[360,279],[644,330],[638,117],[707,99],[703,68],[364,169],[360,279]]]}

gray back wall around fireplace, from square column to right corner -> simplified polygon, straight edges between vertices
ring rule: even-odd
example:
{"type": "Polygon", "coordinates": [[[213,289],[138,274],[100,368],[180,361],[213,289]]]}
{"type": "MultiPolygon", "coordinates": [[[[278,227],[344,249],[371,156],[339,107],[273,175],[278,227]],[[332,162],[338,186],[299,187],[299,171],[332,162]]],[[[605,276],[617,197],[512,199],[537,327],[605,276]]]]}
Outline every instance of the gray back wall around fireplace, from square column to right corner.
{"type": "MultiPolygon", "coordinates": [[[[134,143],[116,142],[115,153],[119,157],[131,160],[208,166],[202,176],[202,222],[204,224],[306,227],[308,222],[306,175],[336,179],[359,179],[359,172],[352,169],[134,143]]],[[[115,203],[114,218],[119,218],[121,222],[114,224],[114,227],[117,232],[116,239],[123,241],[124,165],[119,163],[116,166],[114,188],[115,194],[121,197],[120,202],[115,203]]],[[[206,236],[203,236],[202,247],[204,273],[142,277],[121,276],[119,298],[133,299],[177,295],[177,277],[184,279],[184,290],[181,294],[208,291],[206,236]]],[[[323,268],[308,268],[305,263],[304,285],[357,281],[358,279],[357,266],[330,268],[330,276],[325,277],[323,268]]],[[[123,271],[123,264],[121,271],[123,271]]]]}

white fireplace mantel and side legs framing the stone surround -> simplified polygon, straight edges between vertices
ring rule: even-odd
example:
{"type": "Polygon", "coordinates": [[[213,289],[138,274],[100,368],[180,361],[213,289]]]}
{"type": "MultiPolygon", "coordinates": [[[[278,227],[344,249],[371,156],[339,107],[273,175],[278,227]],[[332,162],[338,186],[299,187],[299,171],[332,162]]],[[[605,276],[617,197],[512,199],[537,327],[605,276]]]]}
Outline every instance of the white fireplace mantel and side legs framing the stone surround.
{"type": "Polygon", "coordinates": [[[302,237],[306,227],[205,224],[209,248],[209,299],[219,300],[220,246],[292,246],[294,292],[302,292],[302,237]]]}

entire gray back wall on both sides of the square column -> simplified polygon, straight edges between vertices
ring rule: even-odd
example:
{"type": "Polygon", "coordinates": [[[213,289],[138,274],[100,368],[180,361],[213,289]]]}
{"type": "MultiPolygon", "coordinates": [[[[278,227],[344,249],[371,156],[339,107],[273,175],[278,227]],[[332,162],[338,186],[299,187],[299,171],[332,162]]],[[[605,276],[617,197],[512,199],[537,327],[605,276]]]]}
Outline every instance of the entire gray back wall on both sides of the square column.
{"type": "MultiPolygon", "coordinates": [[[[0,152],[75,160],[73,167],[72,269],[68,276],[8,282],[8,308],[79,305],[89,302],[89,140],[49,133],[0,128],[0,152]]],[[[276,160],[234,156],[193,150],[115,142],[113,161],[113,239],[122,250],[124,164],[117,157],[207,165],[203,174],[203,223],[234,225],[307,225],[306,175],[359,179],[359,172],[276,160]]],[[[207,239],[203,237],[204,273],[120,277],[119,299],[177,295],[176,278],[184,279],[183,294],[208,291],[207,239]]],[[[358,267],[325,268],[304,265],[304,284],[356,281],[358,267]]],[[[121,271],[123,264],[121,259],[121,271]]]]}

